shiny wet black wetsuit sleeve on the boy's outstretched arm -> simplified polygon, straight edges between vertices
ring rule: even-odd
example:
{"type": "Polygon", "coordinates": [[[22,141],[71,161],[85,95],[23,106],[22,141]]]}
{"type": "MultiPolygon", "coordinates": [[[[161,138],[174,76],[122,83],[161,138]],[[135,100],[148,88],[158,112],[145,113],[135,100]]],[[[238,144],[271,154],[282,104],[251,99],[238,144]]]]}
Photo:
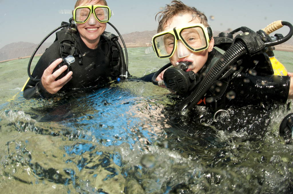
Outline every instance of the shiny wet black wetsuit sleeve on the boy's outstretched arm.
{"type": "Polygon", "coordinates": [[[254,76],[241,73],[229,83],[226,92],[235,92],[234,103],[257,105],[260,103],[285,104],[290,86],[289,76],[254,76]]]}

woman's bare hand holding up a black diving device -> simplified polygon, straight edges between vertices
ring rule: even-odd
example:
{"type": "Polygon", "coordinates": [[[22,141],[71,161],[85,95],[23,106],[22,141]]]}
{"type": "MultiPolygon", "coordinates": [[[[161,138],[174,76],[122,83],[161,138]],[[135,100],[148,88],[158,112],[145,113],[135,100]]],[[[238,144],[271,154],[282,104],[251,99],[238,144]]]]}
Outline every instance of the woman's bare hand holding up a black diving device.
{"type": "Polygon", "coordinates": [[[43,87],[51,94],[57,93],[72,78],[72,71],[70,71],[61,79],[58,79],[57,81],[55,80],[67,69],[67,65],[63,65],[57,71],[52,73],[55,67],[61,62],[62,58],[56,59],[51,65],[49,65],[49,67],[47,67],[47,69],[45,69],[41,78],[43,87]]]}

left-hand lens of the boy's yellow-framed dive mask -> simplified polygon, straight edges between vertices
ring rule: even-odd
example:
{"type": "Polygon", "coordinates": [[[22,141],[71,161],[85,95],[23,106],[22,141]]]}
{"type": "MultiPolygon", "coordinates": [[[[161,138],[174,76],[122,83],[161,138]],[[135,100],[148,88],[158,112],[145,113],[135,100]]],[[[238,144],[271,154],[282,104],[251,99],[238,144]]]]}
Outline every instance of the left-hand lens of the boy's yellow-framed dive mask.
{"type": "Polygon", "coordinates": [[[159,58],[168,58],[174,51],[175,37],[173,34],[161,34],[153,38],[153,46],[159,58]]]}

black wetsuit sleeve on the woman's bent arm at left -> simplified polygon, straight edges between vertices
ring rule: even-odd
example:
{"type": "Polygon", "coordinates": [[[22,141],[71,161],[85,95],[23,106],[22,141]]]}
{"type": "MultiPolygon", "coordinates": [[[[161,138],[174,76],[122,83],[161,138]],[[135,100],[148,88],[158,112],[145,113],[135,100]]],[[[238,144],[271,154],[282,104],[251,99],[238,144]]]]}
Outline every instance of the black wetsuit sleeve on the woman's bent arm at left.
{"type": "MultiPolygon", "coordinates": [[[[40,79],[43,75],[43,72],[48,67],[50,61],[60,58],[59,55],[59,45],[58,41],[55,41],[45,53],[40,57],[38,63],[36,64],[32,76],[40,79]]],[[[26,99],[29,98],[50,98],[52,94],[50,94],[46,89],[42,86],[41,82],[35,82],[29,79],[28,83],[25,85],[23,90],[23,97],[26,99]]]]}

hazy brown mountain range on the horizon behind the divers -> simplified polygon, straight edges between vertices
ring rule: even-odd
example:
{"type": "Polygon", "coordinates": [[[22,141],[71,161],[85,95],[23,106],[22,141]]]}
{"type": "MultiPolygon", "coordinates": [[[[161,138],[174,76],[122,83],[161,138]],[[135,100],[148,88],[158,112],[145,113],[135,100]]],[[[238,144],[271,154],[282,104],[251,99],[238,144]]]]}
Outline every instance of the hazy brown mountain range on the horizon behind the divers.
{"type": "MultiPolygon", "coordinates": [[[[228,31],[225,31],[228,32],[228,31]]],[[[216,37],[220,31],[214,31],[213,36],[216,37]]],[[[156,30],[132,32],[129,34],[123,34],[122,37],[127,47],[144,47],[151,46],[151,38],[156,34],[156,30]]],[[[121,40],[119,39],[122,45],[121,40]]],[[[36,54],[44,53],[52,43],[44,43],[36,54]]],[[[0,49],[0,61],[13,58],[25,57],[32,55],[33,51],[37,47],[37,44],[30,42],[17,42],[5,45],[0,49]]],[[[282,44],[283,47],[293,48],[293,38],[289,39],[286,43],[282,44]]]]}

